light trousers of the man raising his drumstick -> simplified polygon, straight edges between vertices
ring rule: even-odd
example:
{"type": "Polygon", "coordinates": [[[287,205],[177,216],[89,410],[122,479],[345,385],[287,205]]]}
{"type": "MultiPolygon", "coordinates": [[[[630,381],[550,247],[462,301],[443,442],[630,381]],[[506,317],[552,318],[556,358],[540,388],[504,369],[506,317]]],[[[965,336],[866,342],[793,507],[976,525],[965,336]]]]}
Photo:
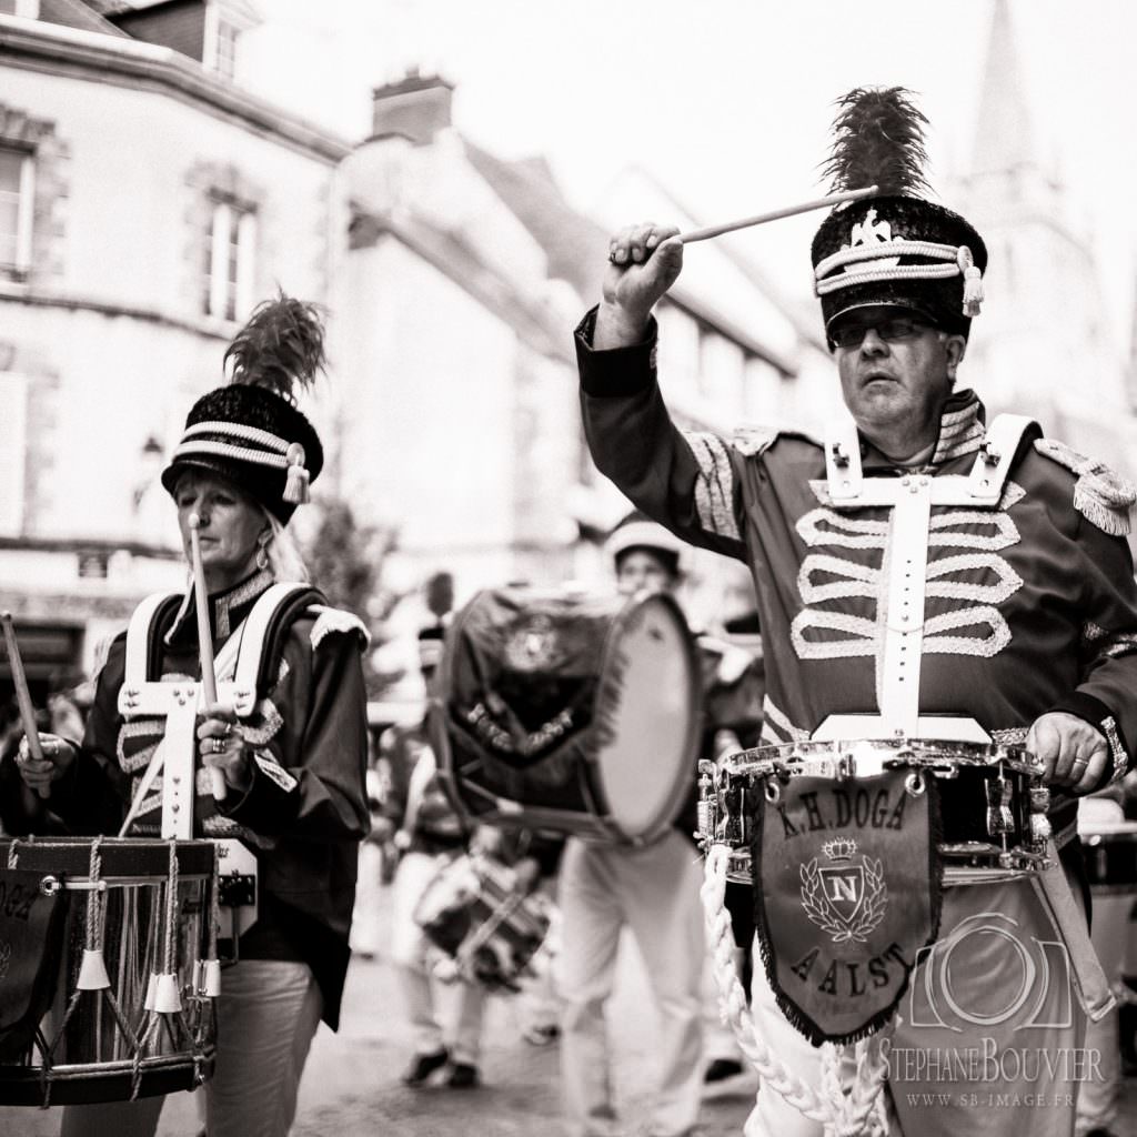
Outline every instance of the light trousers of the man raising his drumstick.
{"type": "MultiPolygon", "coordinates": [[[[1027,882],[945,891],[940,938],[893,1034],[893,1137],[1070,1137],[1079,1089],[1099,1068],[1057,940],[1027,882]]],[[[821,1051],[787,1022],[757,962],[753,1014],[765,1044],[819,1086],[821,1051]]],[[[745,1134],[822,1137],[822,1126],[763,1086],[745,1134]]]]}

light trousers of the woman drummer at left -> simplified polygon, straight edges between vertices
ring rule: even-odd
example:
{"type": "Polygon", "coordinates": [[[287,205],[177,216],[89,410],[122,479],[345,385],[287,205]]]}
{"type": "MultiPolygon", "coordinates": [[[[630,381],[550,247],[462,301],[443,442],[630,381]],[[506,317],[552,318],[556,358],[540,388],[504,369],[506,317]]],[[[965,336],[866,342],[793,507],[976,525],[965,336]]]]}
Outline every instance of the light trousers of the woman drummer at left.
{"type": "MultiPolygon", "coordinates": [[[[287,1137],[323,998],[306,963],[243,960],[222,971],[209,1137],[287,1137]]],[[[60,1137],[153,1137],[163,1097],[69,1105],[60,1137]]]]}

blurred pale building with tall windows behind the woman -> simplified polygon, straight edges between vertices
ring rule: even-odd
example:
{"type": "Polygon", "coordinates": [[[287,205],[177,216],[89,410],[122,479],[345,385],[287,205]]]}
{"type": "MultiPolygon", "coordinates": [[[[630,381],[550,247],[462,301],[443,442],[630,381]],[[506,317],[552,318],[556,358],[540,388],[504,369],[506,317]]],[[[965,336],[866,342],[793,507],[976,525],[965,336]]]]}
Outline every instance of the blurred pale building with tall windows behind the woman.
{"type": "Polygon", "coordinates": [[[89,666],[141,596],[183,583],[157,474],[254,301],[277,284],[329,299],[348,147],[226,77],[222,16],[248,18],[243,3],[0,5],[13,10],[0,607],[42,686],[89,666]]]}

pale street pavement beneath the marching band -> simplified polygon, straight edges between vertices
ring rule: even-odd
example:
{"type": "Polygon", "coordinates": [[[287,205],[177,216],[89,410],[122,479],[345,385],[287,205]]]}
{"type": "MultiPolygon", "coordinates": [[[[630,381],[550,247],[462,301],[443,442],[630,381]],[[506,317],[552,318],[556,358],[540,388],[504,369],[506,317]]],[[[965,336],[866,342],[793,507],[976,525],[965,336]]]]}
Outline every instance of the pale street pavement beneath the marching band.
{"type": "MultiPolygon", "coordinates": [[[[373,912],[380,927],[385,906],[381,893],[373,912]]],[[[624,1131],[641,1137],[650,1096],[650,999],[632,941],[622,945],[621,957],[617,994],[609,1007],[614,1085],[624,1131]]],[[[333,1035],[321,1026],[313,1044],[292,1137],[561,1137],[557,1045],[537,1047],[523,1039],[516,998],[490,1001],[484,1037],[482,1086],[408,1089],[399,1076],[412,1044],[395,972],[381,954],[356,957],[348,973],[342,1027],[333,1035]]],[[[705,1137],[739,1137],[756,1086],[750,1072],[708,1095],[700,1119],[705,1137]]],[[[55,1137],[58,1127],[56,1110],[0,1109],[0,1137],[55,1137]]],[[[172,1096],[158,1137],[194,1137],[198,1130],[193,1096],[172,1096]]],[[[1117,1134],[1135,1132],[1137,1080],[1130,1079],[1117,1134]]]]}

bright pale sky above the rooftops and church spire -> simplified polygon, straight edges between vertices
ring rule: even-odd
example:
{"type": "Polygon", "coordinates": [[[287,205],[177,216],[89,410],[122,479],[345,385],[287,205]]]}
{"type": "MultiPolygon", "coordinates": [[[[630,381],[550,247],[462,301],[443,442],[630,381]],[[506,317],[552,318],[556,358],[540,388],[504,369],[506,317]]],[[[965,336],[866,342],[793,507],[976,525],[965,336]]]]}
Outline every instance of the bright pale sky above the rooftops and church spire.
{"type": "MultiPolygon", "coordinates": [[[[457,127],[545,155],[570,200],[638,165],[697,217],[816,196],[832,101],[902,84],[931,119],[930,180],[966,168],[994,0],[256,0],[244,78],[351,140],[370,91],[408,64],[456,84],[457,127]]],[[[1119,342],[1137,277],[1137,3],[1010,0],[1039,156],[1095,241],[1119,342]]],[[[951,200],[946,200],[952,205],[951,200]]],[[[637,218],[628,218],[634,221],[637,218]]],[[[666,218],[656,218],[665,221],[666,218]]],[[[820,215],[736,235],[807,294],[820,215]]]]}

